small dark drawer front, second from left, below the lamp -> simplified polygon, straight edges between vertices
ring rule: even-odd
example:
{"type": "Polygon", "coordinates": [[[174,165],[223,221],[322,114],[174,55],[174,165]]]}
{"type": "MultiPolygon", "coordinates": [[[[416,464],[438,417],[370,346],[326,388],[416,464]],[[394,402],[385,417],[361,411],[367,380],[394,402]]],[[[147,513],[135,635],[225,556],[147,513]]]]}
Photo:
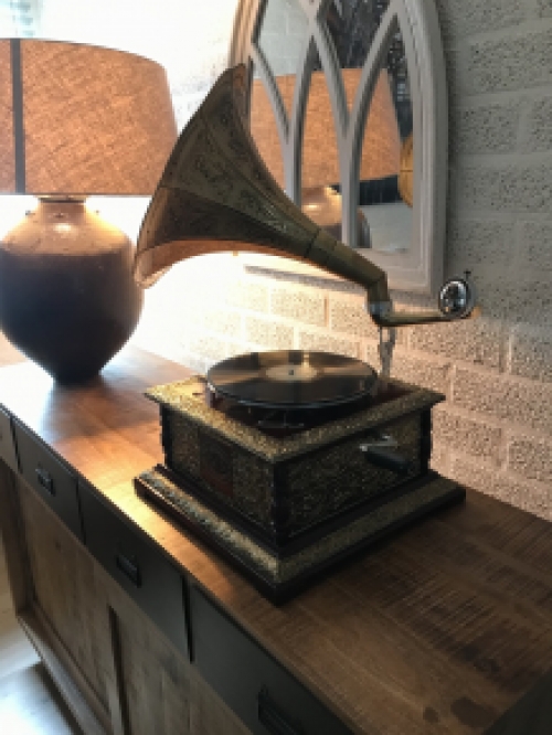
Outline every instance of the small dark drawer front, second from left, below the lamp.
{"type": "Polygon", "coordinates": [[[24,479],[70,531],[84,541],[76,478],[18,422],[14,422],[14,434],[19,467],[24,479]]]}

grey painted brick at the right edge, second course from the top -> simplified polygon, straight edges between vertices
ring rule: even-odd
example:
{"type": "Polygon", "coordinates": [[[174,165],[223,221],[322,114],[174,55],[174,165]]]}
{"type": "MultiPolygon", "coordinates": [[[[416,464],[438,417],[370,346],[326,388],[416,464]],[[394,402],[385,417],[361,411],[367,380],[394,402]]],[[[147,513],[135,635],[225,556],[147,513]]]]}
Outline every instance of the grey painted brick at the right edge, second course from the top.
{"type": "Polygon", "coordinates": [[[537,33],[518,30],[469,44],[464,83],[470,93],[527,89],[551,82],[552,28],[537,33]]]}

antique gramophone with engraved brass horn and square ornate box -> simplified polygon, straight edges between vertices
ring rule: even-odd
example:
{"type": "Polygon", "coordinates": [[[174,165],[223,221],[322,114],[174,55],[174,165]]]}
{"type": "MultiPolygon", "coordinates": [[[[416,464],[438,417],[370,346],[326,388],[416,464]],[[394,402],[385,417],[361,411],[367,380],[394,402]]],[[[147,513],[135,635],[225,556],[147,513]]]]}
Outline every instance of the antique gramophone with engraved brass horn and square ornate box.
{"type": "MultiPolygon", "coordinates": [[[[473,315],[465,278],[438,309],[395,312],[383,270],[315,224],[280,190],[246,118],[246,68],[226,71],[182,131],[142,222],[135,278],[222,251],[307,262],[367,290],[380,328],[473,315]]],[[[444,396],[358,360],[252,353],[206,377],[155,386],[164,464],[135,480],[280,603],[329,566],[464,498],[429,469],[431,409],[444,396]]]]}

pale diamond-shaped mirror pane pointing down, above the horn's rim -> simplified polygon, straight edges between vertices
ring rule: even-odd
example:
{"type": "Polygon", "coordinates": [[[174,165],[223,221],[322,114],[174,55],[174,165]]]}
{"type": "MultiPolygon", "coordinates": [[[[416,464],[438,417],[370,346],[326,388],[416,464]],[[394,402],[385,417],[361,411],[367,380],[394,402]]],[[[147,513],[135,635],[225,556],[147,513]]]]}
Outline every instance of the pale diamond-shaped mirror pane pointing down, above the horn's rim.
{"type": "Polygon", "coordinates": [[[307,17],[298,0],[266,0],[257,47],[276,81],[288,115],[307,30],[307,17]]]}

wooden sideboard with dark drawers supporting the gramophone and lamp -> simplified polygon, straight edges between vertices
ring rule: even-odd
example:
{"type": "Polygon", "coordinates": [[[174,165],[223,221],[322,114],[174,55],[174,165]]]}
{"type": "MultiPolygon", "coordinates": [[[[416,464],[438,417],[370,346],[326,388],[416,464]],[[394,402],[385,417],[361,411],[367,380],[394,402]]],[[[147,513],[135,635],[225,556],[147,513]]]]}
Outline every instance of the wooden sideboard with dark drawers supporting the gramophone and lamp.
{"type": "Polygon", "coordinates": [[[188,374],[0,370],[13,600],[86,735],[552,732],[552,525],[468,491],[274,607],[134,491],[162,461],[142,392],[188,374]]]}

